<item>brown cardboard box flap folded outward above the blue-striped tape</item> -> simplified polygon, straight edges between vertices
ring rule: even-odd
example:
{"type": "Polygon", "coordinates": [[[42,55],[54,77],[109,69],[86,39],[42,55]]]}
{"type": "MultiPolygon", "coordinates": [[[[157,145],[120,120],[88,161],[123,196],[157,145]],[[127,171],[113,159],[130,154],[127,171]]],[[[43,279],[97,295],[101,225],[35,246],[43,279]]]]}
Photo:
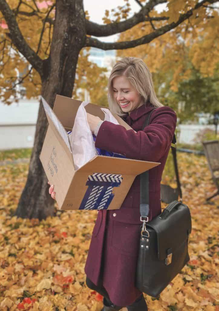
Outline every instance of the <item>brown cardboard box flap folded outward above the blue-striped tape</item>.
{"type": "Polygon", "coordinates": [[[123,174],[137,176],[159,165],[158,162],[132,160],[109,156],[96,156],[83,165],[77,172],[103,172],[106,174],[123,174]]]}

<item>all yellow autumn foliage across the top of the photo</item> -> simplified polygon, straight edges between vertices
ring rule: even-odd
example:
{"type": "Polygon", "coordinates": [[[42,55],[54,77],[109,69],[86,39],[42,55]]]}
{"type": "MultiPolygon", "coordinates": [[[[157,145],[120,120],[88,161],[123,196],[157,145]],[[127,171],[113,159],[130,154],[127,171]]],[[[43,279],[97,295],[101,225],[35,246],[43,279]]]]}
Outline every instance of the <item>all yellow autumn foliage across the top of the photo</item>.
{"type": "MultiPolygon", "coordinates": [[[[50,55],[56,2],[54,0],[8,0],[7,2],[24,40],[38,57],[46,62],[50,55]]],[[[185,49],[187,48],[189,48],[189,58],[194,66],[203,75],[212,75],[218,62],[216,40],[219,28],[218,12],[212,8],[215,1],[170,0],[166,10],[161,13],[158,13],[154,6],[167,1],[156,0],[154,4],[151,0],[149,2],[136,0],[136,2],[139,3],[140,11],[131,18],[129,18],[131,12],[129,0],[124,0],[124,6],[119,6],[112,12],[106,10],[103,21],[107,26],[112,25],[111,29],[108,27],[108,30],[107,28],[97,30],[96,26],[99,25],[90,24],[94,28],[93,33],[96,32],[97,36],[101,36],[99,33],[101,31],[105,32],[103,35],[106,35],[109,30],[111,33],[122,31],[119,39],[122,44],[100,44],[98,40],[92,39],[88,34],[87,40],[90,37],[92,41],[89,41],[87,46],[102,49],[122,48],[119,50],[118,56],[138,56],[147,63],[151,72],[157,70],[165,72],[174,68],[171,82],[173,90],[177,89],[177,82],[180,79],[188,77],[190,74],[185,58],[185,49]],[[184,20],[185,15],[186,19],[184,20]],[[122,25],[123,22],[129,22],[129,26],[122,25]],[[178,26],[173,25],[174,23],[178,26]],[[116,24],[118,29],[116,29],[116,24]],[[132,25],[134,26],[132,27],[132,25]],[[113,27],[115,30],[112,29],[113,27]],[[129,44],[130,41],[133,43],[129,44]],[[129,48],[131,46],[134,48],[129,48]]],[[[89,20],[88,12],[85,12],[85,17],[89,20]]],[[[27,98],[40,95],[41,77],[19,52],[15,44],[12,44],[11,33],[1,10],[0,59],[1,100],[10,104],[11,95],[14,95],[13,100],[17,100],[18,88],[16,86],[21,83],[25,88],[27,98]]],[[[88,55],[85,55],[82,49],[77,65],[76,86],[77,88],[85,86],[84,78],[86,77],[86,86],[91,91],[91,100],[96,103],[101,101],[106,105],[104,93],[106,92],[107,78],[103,72],[102,68],[88,61],[88,55]],[[93,79],[94,76],[95,79],[93,79]]],[[[76,88],[73,95],[77,96],[76,88]]]]}

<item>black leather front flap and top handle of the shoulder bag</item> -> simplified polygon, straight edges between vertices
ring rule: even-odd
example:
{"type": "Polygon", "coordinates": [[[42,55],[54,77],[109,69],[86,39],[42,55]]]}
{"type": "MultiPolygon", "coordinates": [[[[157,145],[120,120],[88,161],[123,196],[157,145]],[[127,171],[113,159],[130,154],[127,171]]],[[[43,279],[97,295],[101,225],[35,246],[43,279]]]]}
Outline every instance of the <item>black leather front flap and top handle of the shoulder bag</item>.
{"type": "Polygon", "coordinates": [[[181,202],[170,203],[164,211],[148,224],[157,234],[158,259],[167,257],[167,250],[172,248],[174,253],[191,233],[192,222],[189,208],[181,202]]]}

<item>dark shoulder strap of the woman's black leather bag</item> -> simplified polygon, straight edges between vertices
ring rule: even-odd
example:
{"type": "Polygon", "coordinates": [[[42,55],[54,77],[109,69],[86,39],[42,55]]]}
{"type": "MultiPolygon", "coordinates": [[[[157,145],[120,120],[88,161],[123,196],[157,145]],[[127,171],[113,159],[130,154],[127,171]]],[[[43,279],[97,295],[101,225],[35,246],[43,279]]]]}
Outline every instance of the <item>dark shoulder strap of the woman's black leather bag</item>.
{"type": "MultiPolygon", "coordinates": [[[[153,110],[156,108],[153,108],[153,110]]],[[[151,114],[153,112],[153,110],[151,110],[144,121],[143,127],[142,127],[142,131],[143,129],[150,123],[150,117],[151,114]]],[[[176,178],[177,178],[177,188],[179,191],[179,196],[182,199],[182,191],[181,191],[181,185],[180,185],[180,181],[179,181],[179,174],[178,174],[178,168],[177,168],[177,159],[176,159],[176,136],[175,133],[173,135],[173,140],[171,143],[171,151],[173,154],[173,164],[174,164],[174,169],[175,169],[175,174],[176,174],[176,178]]],[[[141,221],[142,218],[146,218],[148,221],[148,214],[149,214],[149,172],[143,172],[142,174],[140,174],[140,214],[141,214],[141,221]]]]}

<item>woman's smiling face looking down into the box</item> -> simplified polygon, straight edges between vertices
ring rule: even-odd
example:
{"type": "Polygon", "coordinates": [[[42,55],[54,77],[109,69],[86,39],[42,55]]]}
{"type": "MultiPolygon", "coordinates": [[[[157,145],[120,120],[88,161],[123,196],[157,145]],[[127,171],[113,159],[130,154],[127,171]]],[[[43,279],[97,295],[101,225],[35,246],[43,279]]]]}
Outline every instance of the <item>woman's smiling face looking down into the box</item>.
{"type": "Polygon", "coordinates": [[[143,105],[143,99],[125,76],[115,77],[112,81],[114,100],[123,112],[130,113],[143,105]]]}

